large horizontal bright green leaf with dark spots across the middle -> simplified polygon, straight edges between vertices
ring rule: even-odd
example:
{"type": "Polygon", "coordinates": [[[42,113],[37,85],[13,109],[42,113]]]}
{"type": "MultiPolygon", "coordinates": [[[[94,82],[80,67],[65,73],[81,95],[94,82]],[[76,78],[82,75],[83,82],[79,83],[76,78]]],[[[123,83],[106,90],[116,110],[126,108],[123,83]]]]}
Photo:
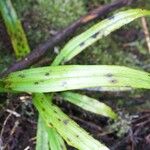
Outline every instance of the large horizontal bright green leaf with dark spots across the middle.
{"type": "Polygon", "coordinates": [[[24,92],[56,92],[91,87],[150,89],[150,74],[121,66],[68,65],[27,69],[3,79],[6,89],[24,92]]]}

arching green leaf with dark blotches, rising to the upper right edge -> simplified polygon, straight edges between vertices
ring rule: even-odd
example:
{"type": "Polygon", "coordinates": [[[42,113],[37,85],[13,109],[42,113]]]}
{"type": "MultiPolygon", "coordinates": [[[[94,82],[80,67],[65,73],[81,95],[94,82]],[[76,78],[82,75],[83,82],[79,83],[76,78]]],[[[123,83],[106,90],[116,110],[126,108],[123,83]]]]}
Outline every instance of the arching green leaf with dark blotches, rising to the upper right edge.
{"type": "Polygon", "coordinates": [[[130,23],[134,19],[146,15],[150,15],[150,11],[131,9],[116,13],[114,16],[97,23],[87,31],[70,40],[61,50],[60,54],[57,55],[53,65],[69,61],[97,40],[109,35],[111,32],[130,23]]]}

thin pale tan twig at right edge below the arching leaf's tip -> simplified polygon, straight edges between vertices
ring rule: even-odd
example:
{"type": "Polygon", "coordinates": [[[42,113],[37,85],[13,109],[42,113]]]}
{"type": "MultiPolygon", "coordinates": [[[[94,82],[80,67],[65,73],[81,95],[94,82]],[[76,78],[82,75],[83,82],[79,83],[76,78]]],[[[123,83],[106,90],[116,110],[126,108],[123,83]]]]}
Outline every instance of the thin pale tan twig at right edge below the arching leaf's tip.
{"type": "Polygon", "coordinates": [[[146,39],[148,51],[150,53],[150,33],[148,31],[147,22],[146,22],[145,17],[141,18],[141,22],[142,22],[143,31],[144,31],[144,34],[145,34],[145,39],[146,39]]]}

